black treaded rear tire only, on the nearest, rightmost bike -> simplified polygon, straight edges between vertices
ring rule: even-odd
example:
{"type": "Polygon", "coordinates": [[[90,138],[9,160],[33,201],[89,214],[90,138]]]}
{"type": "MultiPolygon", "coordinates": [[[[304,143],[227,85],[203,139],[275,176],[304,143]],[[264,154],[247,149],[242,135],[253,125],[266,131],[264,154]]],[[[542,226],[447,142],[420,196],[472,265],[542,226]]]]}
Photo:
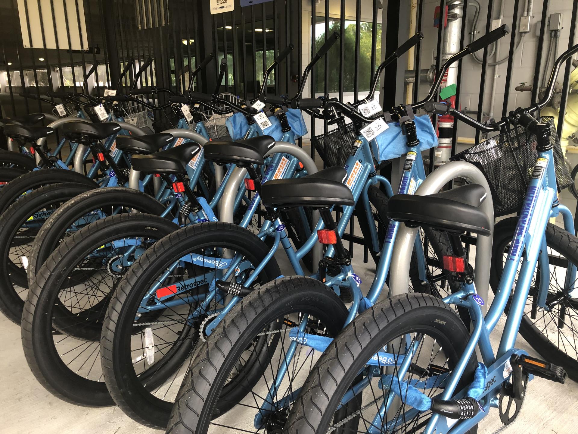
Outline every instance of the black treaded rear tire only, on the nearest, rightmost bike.
{"type": "MultiPolygon", "coordinates": [[[[445,334],[447,342],[451,344],[444,345],[444,350],[455,353],[455,358],[459,359],[468,343],[469,332],[442,300],[421,293],[384,300],[355,318],[321,355],[303,385],[305,393],[299,395],[290,411],[283,433],[325,434],[338,406],[336,400],[341,400],[360,372],[358,366],[364,366],[375,354],[376,341],[384,340],[386,336],[398,336],[396,328],[404,330],[411,326],[417,329],[417,321],[423,321],[424,326],[445,334]]],[[[457,390],[471,381],[476,366],[474,355],[457,390]]],[[[472,428],[469,433],[476,431],[477,428],[472,428]]]]}

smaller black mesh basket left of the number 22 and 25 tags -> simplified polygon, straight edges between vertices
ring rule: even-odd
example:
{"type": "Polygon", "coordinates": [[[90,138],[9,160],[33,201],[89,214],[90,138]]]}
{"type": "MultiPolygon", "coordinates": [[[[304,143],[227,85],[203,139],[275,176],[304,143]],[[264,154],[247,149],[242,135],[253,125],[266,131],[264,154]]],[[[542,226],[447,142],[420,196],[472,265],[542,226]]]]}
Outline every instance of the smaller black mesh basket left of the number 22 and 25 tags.
{"type": "MultiPolygon", "coordinates": [[[[355,139],[357,139],[357,134],[355,134],[354,125],[353,123],[349,123],[346,125],[345,134],[339,133],[339,129],[335,128],[335,130],[329,131],[327,134],[313,136],[311,143],[315,146],[317,153],[321,156],[321,159],[327,167],[333,165],[343,167],[349,158],[349,153],[351,152],[351,148],[353,148],[355,139]]],[[[390,163],[390,161],[377,163],[375,156],[373,156],[373,150],[371,151],[371,155],[376,170],[390,163]]]]}

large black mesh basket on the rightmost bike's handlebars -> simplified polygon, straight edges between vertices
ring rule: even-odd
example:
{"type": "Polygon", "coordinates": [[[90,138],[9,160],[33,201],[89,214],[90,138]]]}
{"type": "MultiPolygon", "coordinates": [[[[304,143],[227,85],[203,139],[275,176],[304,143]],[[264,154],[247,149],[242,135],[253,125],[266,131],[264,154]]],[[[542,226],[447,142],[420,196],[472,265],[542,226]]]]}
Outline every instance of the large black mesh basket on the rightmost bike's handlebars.
{"type": "MultiPolygon", "coordinates": [[[[554,118],[543,116],[541,120],[552,132],[550,140],[554,146],[554,166],[558,189],[561,191],[572,183],[572,179],[564,163],[554,118]]],[[[528,133],[524,127],[517,126],[509,134],[509,143],[507,135],[500,134],[456,154],[451,160],[468,161],[483,172],[490,184],[494,215],[498,217],[520,211],[537,158],[536,136],[528,133]]]]}

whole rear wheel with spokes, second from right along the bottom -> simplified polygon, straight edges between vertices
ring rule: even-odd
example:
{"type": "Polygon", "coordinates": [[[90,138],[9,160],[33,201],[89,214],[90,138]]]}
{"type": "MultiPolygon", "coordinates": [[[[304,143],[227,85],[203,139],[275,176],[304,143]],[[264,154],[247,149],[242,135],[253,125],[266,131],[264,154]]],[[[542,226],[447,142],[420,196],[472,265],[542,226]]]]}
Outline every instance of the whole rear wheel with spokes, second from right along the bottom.
{"type": "Polygon", "coordinates": [[[193,355],[166,432],[281,432],[303,380],[321,354],[296,345],[291,330],[301,325],[307,333],[331,338],[346,318],[339,297],[308,277],[277,279],[244,297],[193,355]],[[266,352],[262,365],[255,366],[258,375],[243,377],[249,379],[239,384],[243,395],[231,399],[221,391],[231,387],[238,370],[246,366],[247,354],[258,347],[266,352]]]}

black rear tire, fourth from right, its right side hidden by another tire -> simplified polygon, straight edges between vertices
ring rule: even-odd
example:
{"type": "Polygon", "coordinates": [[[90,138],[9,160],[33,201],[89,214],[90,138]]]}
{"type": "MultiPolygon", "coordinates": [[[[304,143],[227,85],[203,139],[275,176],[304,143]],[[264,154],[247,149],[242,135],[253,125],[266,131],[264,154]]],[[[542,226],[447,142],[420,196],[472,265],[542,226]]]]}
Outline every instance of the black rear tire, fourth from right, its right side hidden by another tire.
{"type": "MultiPolygon", "coordinates": [[[[75,266],[79,255],[94,249],[100,242],[113,240],[121,234],[137,234],[151,238],[168,235],[177,225],[150,215],[127,213],[97,220],[62,243],[38,271],[28,292],[22,317],[24,355],[34,376],[54,396],[65,402],[102,407],[114,404],[103,381],[93,381],[73,373],[60,359],[51,336],[51,315],[58,295],[58,280],[65,277],[66,264],[75,266]],[[105,232],[110,231],[109,235],[105,232]],[[85,247],[86,246],[86,247],[85,247]]],[[[157,240],[158,241],[158,240],[157,240]]]]}

